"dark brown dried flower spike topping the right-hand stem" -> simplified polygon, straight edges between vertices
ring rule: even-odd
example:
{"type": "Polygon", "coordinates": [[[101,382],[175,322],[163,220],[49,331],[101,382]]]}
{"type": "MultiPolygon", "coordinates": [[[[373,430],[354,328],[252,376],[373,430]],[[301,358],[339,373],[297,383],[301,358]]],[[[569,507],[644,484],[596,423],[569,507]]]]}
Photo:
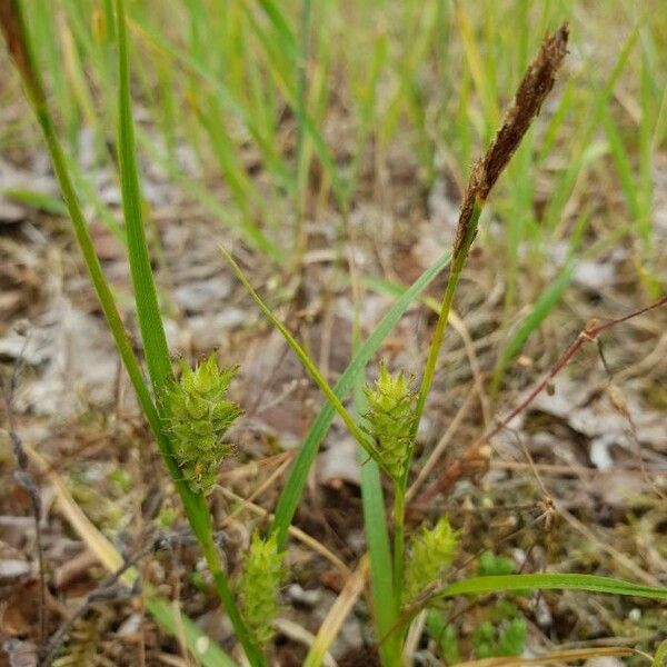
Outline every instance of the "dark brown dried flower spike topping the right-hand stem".
{"type": "Polygon", "coordinates": [[[528,131],[530,123],[539,113],[546,97],[554,88],[556,74],[567,53],[568,36],[567,23],[564,23],[557,32],[545,38],[539,52],[519,83],[514,103],[507,111],[494,142],[484,158],[472,166],[459,215],[454,243],[455,257],[466,243],[475,205],[480,205],[486,200],[521,142],[524,135],[528,131]]]}

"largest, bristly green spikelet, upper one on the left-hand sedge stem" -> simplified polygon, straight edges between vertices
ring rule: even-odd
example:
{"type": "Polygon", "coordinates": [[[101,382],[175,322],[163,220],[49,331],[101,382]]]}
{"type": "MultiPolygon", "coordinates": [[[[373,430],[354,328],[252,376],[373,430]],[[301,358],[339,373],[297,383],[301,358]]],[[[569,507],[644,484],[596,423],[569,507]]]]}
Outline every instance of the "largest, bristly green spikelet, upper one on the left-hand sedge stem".
{"type": "Polygon", "coordinates": [[[181,366],[180,380],[168,387],[165,400],[173,454],[190,488],[208,495],[220,464],[233,449],[225,434],[242,414],[226,399],[238,368],[221,370],[215,352],[195,370],[182,361],[181,366]]]}

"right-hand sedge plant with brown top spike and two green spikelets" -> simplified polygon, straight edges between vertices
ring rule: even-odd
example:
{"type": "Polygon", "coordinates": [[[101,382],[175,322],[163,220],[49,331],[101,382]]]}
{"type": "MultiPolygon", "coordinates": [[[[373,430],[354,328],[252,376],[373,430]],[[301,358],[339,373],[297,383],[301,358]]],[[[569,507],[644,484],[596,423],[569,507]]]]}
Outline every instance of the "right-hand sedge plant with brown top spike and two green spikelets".
{"type": "MultiPolygon", "coordinates": [[[[371,590],[374,616],[379,636],[379,653],[384,665],[402,664],[402,637],[406,624],[426,606],[455,595],[478,595],[501,590],[526,590],[530,588],[573,588],[610,594],[629,594],[665,599],[667,591],[653,587],[624,583],[608,577],[591,575],[482,575],[454,584],[447,584],[448,567],[456,557],[460,536],[452,530],[446,517],[434,527],[422,527],[411,538],[405,535],[406,491],[410,475],[410,461],[416,445],[419,421],[430,392],[438,354],[442,344],[445,327],[449,318],[456,288],[465,267],[468,252],[477,235],[479,218],[485,202],[517,150],[521,138],[539,113],[541,104],[550,92],[557,71],[567,52],[568,30],[564,26],[548,37],[529,64],[521,80],[512,107],[507,112],[501,128],[496,135],[485,157],[475,163],[461,205],[457,235],[451,252],[450,272],[442,297],[439,317],[432,335],[419,389],[412,387],[414,379],[405,372],[390,374],[380,367],[380,376],[375,385],[364,389],[367,410],[360,426],[342,404],[345,394],[355,386],[355,376],[360,368],[355,367],[359,357],[368,349],[362,346],[339,384],[331,388],[308,354],[291,336],[287,327],[273,315],[261,297],[251,287],[248,278],[231,256],[222,249],[222,255],[235,270],[239,280],[249,291],[259,308],[283,335],[303,367],[311,375],[329,401],[309,431],[297,458],[283,494],[278,502],[273,529],[279,539],[285,539],[296,504],[306,481],[306,472],[312,464],[317,447],[331,424],[336,411],[361,449],[391,481],[394,488],[394,510],[391,512],[394,548],[388,552],[382,512],[378,511],[381,489],[377,477],[371,474],[368,484],[362,482],[362,492],[374,495],[374,500],[365,498],[365,505],[372,505],[374,511],[365,514],[367,538],[371,560],[371,590]],[[350,376],[348,378],[348,371],[350,376]],[[369,520],[372,515],[375,520],[369,520]],[[406,566],[406,551],[409,554],[406,566]],[[380,567],[374,568],[374,563],[380,567]],[[388,576],[388,570],[390,576],[388,576]],[[629,593],[630,589],[634,593],[629,593]]],[[[368,361],[367,357],[362,364],[368,361]]],[[[364,472],[362,472],[364,476],[364,472]]],[[[507,647],[520,644],[519,625],[511,626],[506,640],[507,647]],[[515,627],[516,626],[516,627],[515,627]]],[[[479,644],[482,644],[482,637],[479,644]]],[[[321,649],[321,647],[319,647],[321,649]]],[[[504,649],[505,650],[505,649],[504,649]]],[[[319,655],[319,654],[318,654],[319,655]]],[[[317,665],[320,658],[307,659],[317,665]]]]}

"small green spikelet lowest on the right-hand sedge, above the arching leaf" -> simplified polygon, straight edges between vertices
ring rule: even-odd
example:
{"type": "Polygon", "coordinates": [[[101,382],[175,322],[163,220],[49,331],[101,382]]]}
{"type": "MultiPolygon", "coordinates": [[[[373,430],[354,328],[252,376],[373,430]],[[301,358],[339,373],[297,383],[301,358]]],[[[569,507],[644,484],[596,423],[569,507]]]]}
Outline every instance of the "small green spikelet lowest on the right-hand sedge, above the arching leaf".
{"type": "Polygon", "coordinates": [[[427,586],[438,583],[451,565],[459,534],[442,517],[434,528],[422,528],[410,540],[404,603],[414,600],[427,586]]]}

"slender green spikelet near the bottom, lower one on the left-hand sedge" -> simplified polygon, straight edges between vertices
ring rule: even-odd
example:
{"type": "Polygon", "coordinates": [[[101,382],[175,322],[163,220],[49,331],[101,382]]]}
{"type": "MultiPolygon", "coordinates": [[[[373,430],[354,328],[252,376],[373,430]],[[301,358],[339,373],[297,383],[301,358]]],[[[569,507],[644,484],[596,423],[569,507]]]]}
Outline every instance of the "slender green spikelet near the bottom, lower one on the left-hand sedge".
{"type": "Polygon", "coordinates": [[[278,552],[275,532],[268,539],[262,539],[256,531],[238,584],[243,620],[262,647],[273,636],[271,624],[280,610],[278,593],[285,578],[283,557],[285,551],[278,552]]]}

